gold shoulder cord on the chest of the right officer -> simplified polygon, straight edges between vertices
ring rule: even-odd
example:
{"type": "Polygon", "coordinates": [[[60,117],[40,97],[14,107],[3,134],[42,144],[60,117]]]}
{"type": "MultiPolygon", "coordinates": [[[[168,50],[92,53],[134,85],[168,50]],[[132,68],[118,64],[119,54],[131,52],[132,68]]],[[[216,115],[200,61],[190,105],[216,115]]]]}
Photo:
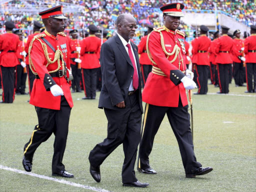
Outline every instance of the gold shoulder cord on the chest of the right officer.
{"type": "MultiPolygon", "coordinates": [[[[158,31],[158,30],[155,30],[155,31],[159,32],[159,34],[160,34],[161,47],[162,47],[163,52],[167,55],[166,58],[168,58],[169,56],[171,56],[171,55],[173,55],[173,54],[175,53],[174,58],[173,58],[172,60],[170,60],[170,62],[173,62],[174,60],[176,60],[176,58],[177,58],[177,56],[178,56],[178,65],[180,66],[180,59],[179,59],[179,55],[178,55],[178,53],[180,53],[180,48],[178,47],[177,42],[175,42],[175,45],[174,45],[174,47],[173,47],[172,52],[167,52],[166,49],[165,49],[165,46],[164,46],[164,40],[163,40],[162,32],[161,32],[161,31],[158,31]]],[[[149,48],[148,48],[148,42],[149,42],[149,36],[150,36],[150,34],[151,34],[151,33],[149,33],[149,34],[147,35],[147,39],[146,39],[146,52],[147,52],[147,56],[148,56],[149,60],[150,60],[152,63],[156,64],[156,63],[153,61],[152,55],[151,55],[151,53],[150,53],[150,51],[149,51],[149,48]]],[[[180,55],[181,55],[181,53],[180,53],[180,55]]],[[[181,57],[181,61],[182,61],[182,64],[183,64],[183,59],[182,59],[182,57],[181,57]]],[[[157,64],[156,64],[156,65],[157,65],[157,64]]]]}

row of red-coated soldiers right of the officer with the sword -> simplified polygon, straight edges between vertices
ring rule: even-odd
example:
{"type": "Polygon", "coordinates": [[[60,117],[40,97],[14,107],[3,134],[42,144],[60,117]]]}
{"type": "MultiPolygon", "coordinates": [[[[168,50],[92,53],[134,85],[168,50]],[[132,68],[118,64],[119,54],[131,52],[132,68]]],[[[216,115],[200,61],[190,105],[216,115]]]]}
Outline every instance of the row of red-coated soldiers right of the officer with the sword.
{"type": "MultiPolygon", "coordinates": [[[[247,90],[255,92],[255,84],[252,84],[252,76],[255,79],[256,63],[256,37],[255,25],[251,25],[251,36],[244,41],[240,39],[240,31],[235,30],[234,39],[227,35],[228,27],[221,26],[222,35],[218,31],[214,33],[211,41],[206,33],[208,28],[200,26],[200,36],[191,41],[192,45],[192,68],[194,70],[194,81],[198,85],[198,91],[194,94],[206,94],[208,69],[210,70],[211,82],[219,86],[217,93],[228,93],[228,85],[231,82],[232,71],[236,86],[243,86],[244,73],[246,69],[247,90]],[[253,64],[254,63],[254,64],[253,64]],[[232,68],[233,64],[233,68],[232,68]]],[[[255,80],[254,80],[255,82],[255,80]]]]}

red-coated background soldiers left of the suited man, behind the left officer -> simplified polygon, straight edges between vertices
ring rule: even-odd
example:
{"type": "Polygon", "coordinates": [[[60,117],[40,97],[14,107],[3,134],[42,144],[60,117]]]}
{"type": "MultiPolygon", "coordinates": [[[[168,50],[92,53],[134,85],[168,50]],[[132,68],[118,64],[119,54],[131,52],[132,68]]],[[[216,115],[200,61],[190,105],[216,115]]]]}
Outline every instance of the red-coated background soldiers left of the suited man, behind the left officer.
{"type": "MultiPolygon", "coordinates": [[[[28,65],[28,48],[33,37],[40,32],[43,26],[34,21],[33,34],[22,40],[22,31],[15,30],[12,33],[14,24],[5,22],[6,33],[0,35],[0,66],[1,66],[1,85],[2,101],[12,103],[16,94],[27,94],[25,92],[26,76],[28,76],[29,94],[31,93],[35,75],[28,65]],[[16,71],[16,73],[15,73],[16,71]]],[[[106,40],[107,31],[103,31],[103,39],[95,36],[98,28],[89,25],[88,36],[82,40],[77,37],[77,30],[69,31],[72,38],[68,38],[68,43],[64,50],[69,54],[72,69],[73,80],[71,82],[72,92],[81,92],[84,90],[83,99],[94,99],[96,92],[96,83],[99,86],[100,64],[99,51],[101,43],[106,40]],[[97,79],[97,80],[96,80],[97,79]]],[[[45,31],[47,32],[47,31],[45,31]]],[[[86,36],[86,35],[85,35],[86,36]]]]}

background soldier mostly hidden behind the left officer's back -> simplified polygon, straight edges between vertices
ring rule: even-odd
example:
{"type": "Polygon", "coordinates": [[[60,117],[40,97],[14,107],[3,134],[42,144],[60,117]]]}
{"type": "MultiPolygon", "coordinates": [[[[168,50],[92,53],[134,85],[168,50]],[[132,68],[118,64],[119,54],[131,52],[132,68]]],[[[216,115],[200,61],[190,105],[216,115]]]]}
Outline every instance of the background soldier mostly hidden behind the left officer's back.
{"type": "Polygon", "coordinates": [[[26,69],[27,69],[27,75],[28,75],[28,87],[29,87],[29,94],[31,94],[32,87],[33,87],[33,82],[34,82],[34,74],[32,73],[31,69],[29,68],[28,64],[28,47],[33,39],[34,35],[38,34],[40,32],[40,28],[42,27],[42,24],[39,23],[38,21],[34,21],[34,27],[33,27],[33,33],[28,35],[27,40],[26,40],[26,45],[25,45],[25,52],[26,52],[26,69]]]}

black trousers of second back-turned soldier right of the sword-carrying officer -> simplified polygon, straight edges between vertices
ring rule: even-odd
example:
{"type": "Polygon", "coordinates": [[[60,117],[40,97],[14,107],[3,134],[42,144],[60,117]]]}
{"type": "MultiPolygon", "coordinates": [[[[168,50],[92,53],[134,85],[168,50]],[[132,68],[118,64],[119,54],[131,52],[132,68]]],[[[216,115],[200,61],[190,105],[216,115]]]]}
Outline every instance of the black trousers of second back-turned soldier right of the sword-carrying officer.
{"type": "Polygon", "coordinates": [[[218,70],[218,82],[219,82],[219,90],[221,93],[228,93],[228,84],[229,84],[229,70],[230,64],[217,64],[218,70]]]}

